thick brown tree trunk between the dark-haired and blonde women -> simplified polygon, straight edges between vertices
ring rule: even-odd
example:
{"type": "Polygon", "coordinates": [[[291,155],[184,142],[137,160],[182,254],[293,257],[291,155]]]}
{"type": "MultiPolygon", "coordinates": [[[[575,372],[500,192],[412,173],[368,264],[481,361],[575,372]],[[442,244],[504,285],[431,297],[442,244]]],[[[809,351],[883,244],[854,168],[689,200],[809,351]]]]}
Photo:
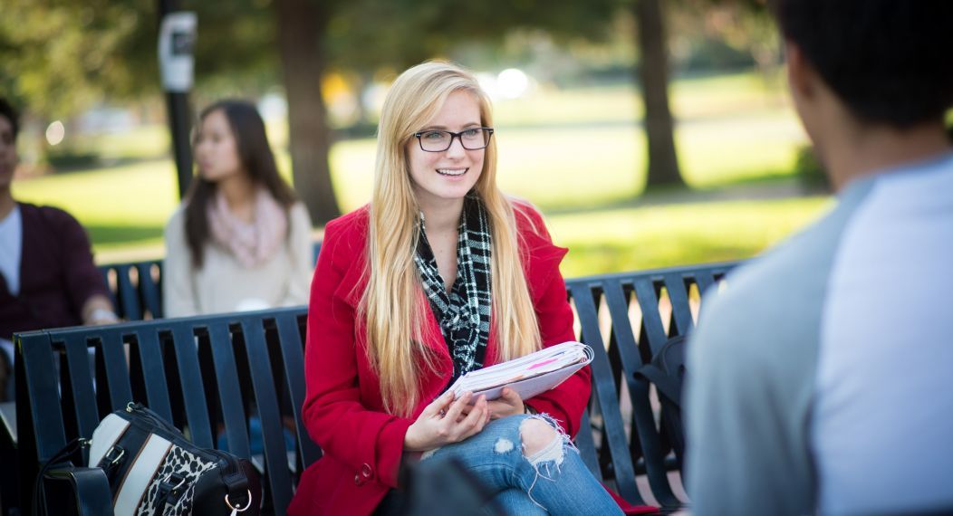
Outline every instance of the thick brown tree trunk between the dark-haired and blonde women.
{"type": "Polygon", "coordinates": [[[276,0],[278,50],[288,97],[288,141],[294,190],[315,226],[340,214],[331,183],[331,131],[321,96],[324,31],[329,11],[319,0],[276,0]]]}

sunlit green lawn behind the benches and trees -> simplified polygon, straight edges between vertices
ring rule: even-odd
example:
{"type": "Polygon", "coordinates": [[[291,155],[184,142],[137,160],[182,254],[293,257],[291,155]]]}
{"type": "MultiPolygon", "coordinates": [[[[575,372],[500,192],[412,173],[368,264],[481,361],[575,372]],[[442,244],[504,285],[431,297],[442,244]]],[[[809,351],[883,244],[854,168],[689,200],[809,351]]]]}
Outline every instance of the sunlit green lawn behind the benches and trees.
{"type": "MultiPolygon", "coordinates": [[[[705,198],[711,189],[790,177],[804,136],[782,99],[771,82],[750,73],[677,81],[679,161],[700,194],[680,195],[671,206],[642,195],[638,91],[540,89],[528,98],[498,101],[499,184],[549,215],[558,243],[573,249],[565,262],[569,275],[751,256],[802,227],[826,204],[824,198],[705,198]]],[[[279,168],[287,172],[283,131],[273,134],[279,168]]],[[[96,145],[116,157],[154,156],[168,145],[168,136],[151,127],[96,145]]],[[[374,154],[373,139],[345,140],[332,149],[342,208],[367,202],[374,154]]],[[[76,215],[89,228],[100,262],[161,256],[162,227],[177,204],[168,158],[20,180],[13,188],[20,199],[76,215]]]]}

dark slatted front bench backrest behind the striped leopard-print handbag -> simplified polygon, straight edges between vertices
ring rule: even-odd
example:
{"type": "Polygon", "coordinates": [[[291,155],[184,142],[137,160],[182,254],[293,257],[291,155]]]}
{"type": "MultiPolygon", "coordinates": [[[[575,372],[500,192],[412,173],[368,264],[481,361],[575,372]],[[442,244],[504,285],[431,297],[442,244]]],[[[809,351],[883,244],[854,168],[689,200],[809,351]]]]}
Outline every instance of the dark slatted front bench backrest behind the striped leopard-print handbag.
{"type": "Polygon", "coordinates": [[[131,401],[165,416],[200,447],[216,447],[224,437],[226,449],[246,458],[255,412],[266,504],[283,514],[294,471],[320,456],[300,418],[306,315],[305,307],[279,308],[18,335],[22,486],[31,486],[27,479],[60,447],[91,437],[102,417],[131,401]],[[293,452],[285,445],[289,429],[293,452]]]}

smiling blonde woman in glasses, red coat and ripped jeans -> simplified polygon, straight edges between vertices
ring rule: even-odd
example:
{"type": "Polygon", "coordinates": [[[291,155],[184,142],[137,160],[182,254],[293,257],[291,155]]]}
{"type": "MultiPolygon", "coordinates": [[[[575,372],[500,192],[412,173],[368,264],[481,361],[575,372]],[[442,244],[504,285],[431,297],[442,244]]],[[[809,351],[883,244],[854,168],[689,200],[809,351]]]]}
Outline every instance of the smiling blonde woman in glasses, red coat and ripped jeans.
{"type": "Polygon", "coordinates": [[[446,390],[574,339],[566,250],[497,189],[492,128],[486,94],[454,65],[408,69],[388,93],[372,201],[328,224],[314,271],[303,413],[325,455],[290,513],[394,512],[401,462],[448,458],[507,513],[620,513],[568,437],[588,367],[529,400],[446,390]]]}

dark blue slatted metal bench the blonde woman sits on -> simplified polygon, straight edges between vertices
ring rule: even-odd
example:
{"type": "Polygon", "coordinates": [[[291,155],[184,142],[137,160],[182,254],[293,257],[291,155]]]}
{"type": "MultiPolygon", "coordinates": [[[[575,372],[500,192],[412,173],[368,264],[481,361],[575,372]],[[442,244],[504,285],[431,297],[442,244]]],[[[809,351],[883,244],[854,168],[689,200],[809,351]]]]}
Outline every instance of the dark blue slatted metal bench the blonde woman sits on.
{"type": "MultiPolygon", "coordinates": [[[[684,503],[670,480],[679,472],[659,429],[653,389],[634,372],[668,337],[693,327],[700,293],[734,265],[567,281],[579,339],[595,350],[593,393],[581,426],[591,431],[579,432],[577,446],[598,479],[630,503],[655,502],[663,510],[684,503]],[[647,479],[647,487],[639,489],[637,478],[647,479]]],[[[266,507],[284,513],[298,473],[321,455],[300,417],[305,320],[304,307],[275,308],[16,335],[23,512],[38,466],[134,400],[184,428],[196,445],[224,443],[243,457],[252,456],[253,412],[260,421],[266,507]],[[293,449],[286,447],[289,439],[293,449]]],[[[5,493],[2,502],[8,500],[5,493]]]]}

